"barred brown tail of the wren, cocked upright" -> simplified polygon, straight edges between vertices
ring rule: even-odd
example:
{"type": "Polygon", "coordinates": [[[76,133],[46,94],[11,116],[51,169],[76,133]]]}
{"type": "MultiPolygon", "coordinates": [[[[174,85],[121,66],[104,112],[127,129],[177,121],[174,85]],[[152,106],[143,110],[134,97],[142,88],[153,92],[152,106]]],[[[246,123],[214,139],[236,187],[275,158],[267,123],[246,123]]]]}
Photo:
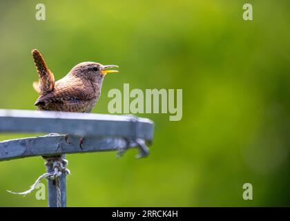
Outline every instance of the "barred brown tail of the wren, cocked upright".
{"type": "Polygon", "coordinates": [[[35,88],[39,95],[46,95],[55,88],[55,76],[46,66],[46,62],[39,50],[32,50],[32,57],[39,75],[39,81],[33,82],[33,88],[35,88]]]}

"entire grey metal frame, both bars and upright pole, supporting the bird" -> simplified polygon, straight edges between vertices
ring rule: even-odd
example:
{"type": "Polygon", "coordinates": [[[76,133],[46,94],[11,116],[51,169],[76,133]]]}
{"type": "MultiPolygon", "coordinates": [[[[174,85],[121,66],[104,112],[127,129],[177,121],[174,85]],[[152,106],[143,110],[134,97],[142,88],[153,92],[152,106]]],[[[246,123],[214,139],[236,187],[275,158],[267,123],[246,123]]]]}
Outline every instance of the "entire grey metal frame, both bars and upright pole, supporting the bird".
{"type": "MultiPolygon", "coordinates": [[[[132,147],[139,148],[139,157],[143,157],[148,155],[146,145],[152,144],[154,124],[149,119],[133,115],[0,109],[0,133],[50,133],[0,142],[0,161],[99,151],[122,154],[132,147]],[[79,146],[81,137],[84,137],[83,149],[79,146]]],[[[51,172],[52,167],[47,166],[47,171],[51,172]]],[[[56,206],[56,186],[50,180],[48,206],[56,206]]],[[[61,175],[61,206],[66,206],[64,174],[61,175]]]]}

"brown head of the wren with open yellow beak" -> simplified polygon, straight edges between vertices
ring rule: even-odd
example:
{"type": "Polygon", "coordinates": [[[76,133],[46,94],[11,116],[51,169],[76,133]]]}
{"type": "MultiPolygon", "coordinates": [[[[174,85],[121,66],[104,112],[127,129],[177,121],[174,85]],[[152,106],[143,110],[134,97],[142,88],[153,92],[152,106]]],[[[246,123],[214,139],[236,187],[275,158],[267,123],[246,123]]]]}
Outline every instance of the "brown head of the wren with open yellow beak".
{"type": "Polygon", "coordinates": [[[110,70],[109,68],[119,68],[116,65],[102,65],[96,62],[82,62],[77,64],[70,70],[70,74],[75,77],[84,77],[90,81],[101,82],[106,74],[117,73],[117,70],[110,70]]]}

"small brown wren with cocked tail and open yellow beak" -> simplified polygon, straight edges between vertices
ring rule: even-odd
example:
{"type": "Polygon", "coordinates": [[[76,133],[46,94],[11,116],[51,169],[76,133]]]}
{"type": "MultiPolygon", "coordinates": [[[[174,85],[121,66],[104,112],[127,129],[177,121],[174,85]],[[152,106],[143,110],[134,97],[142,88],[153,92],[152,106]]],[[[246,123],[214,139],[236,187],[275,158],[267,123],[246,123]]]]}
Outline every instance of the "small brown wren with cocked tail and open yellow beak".
{"type": "MultiPolygon", "coordinates": [[[[81,62],[66,76],[55,81],[55,76],[48,69],[39,50],[32,50],[32,57],[39,75],[39,81],[33,82],[33,88],[39,94],[35,102],[38,111],[90,113],[101,95],[106,74],[118,72],[109,68],[119,68],[116,65],[102,65],[92,61],[81,62]]],[[[81,148],[82,143],[83,138],[80,140],[81,148]]]]}

